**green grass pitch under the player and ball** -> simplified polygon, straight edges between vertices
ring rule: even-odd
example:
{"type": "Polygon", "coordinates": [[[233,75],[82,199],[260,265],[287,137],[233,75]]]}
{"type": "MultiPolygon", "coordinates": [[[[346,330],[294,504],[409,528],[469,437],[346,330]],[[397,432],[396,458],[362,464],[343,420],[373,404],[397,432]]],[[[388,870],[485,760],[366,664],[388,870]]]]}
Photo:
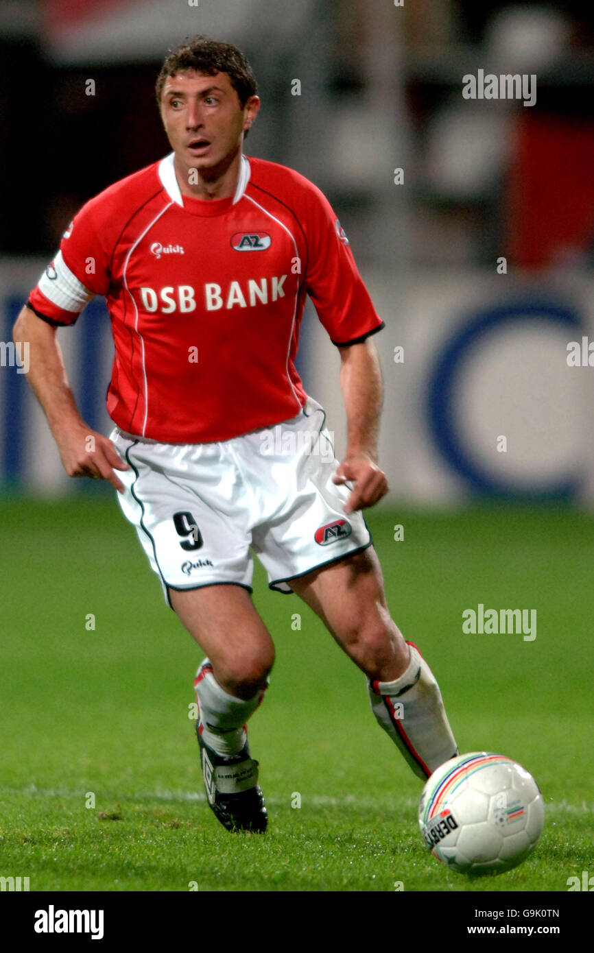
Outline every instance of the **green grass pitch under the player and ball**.
{"type": "Polygon", "coordinates": [[[227,833],[188,717],[201,654],[114,500],[83,494],[0,503],[0,874],[31,891],[566,891],[594,873],[593,520],[520,508],[367,519],[392,614],[437,674],[461,751],[500,751],[539,781],[545,827],[526,862],[470,881],[434,860],[420,781],[362,675],[259,570],[277,665],[250,740],[270,825],[227,833]],[[479,602],[535,608],[537,638],[462,634],[479,602]]]}

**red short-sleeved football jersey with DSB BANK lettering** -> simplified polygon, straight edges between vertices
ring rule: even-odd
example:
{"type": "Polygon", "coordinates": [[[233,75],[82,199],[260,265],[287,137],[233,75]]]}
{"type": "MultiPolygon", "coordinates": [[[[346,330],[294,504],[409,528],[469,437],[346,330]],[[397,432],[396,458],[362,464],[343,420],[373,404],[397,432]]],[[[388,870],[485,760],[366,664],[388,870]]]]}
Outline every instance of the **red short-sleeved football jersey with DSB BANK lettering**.
{"type": "Polygon", "coordinates": [[[87,202],[28,303],[69,325],[95,294],[115,344],[108,412],[122,430],[168,443],[297,416],[306,294],[337,345],[383,327],[325,196],[245,155],[233,197],[182,195],[171,153],[87,202]]]}

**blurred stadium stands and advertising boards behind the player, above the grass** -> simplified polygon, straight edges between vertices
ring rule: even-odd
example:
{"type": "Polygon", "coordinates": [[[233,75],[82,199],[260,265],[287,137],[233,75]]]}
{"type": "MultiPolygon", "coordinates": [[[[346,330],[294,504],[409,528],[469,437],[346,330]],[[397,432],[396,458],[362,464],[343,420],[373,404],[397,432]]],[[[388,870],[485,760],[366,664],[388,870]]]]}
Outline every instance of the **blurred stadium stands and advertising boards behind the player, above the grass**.
{"type": "MultiPolygon", "coordinates": [[[[20,89],[3,95],[0,149],[15,199],[0,234],[4,340],[73,213],[168,152],[152,91],[163,51],[195,30],[233,37],[262,98],[246,152],[295,167],[329,195],[386,321],[381,458],[393,499],[440,505],[491,491],[587,504],[593,377],[566,363],[567,342],[592,335],[594,321],[584,13],[442,0],[401,9],[201,0],[174,15],[159,0],[46,0],[0,10],[5,77],[18,70],[20,89]],[[536,105],[463,99],[462,75],[479,68],[536,73],[536,105]]],[[[105,430],[112,344],[102,300],[60,336],[83,416],[105,430]]],[[[339,450],[337,360],[310,308],[299,367],[339,450]]],[[[75,492],[16,368],[2,369],[0,396],[4,482],[75,492]]]]}

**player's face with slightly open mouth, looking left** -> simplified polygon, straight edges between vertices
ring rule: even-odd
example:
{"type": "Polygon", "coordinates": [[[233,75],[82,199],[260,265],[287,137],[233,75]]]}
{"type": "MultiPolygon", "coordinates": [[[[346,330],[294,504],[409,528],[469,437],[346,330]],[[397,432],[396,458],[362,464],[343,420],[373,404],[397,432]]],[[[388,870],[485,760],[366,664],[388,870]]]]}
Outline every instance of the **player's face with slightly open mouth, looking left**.
{"type": "Polygon", "coordinates": [[[161,118],[175,155],[203,174],[236,154],[258,108],[257,96],[241,108],[226,72],[179,71],[167,77],[161,93],[161,118]]]}

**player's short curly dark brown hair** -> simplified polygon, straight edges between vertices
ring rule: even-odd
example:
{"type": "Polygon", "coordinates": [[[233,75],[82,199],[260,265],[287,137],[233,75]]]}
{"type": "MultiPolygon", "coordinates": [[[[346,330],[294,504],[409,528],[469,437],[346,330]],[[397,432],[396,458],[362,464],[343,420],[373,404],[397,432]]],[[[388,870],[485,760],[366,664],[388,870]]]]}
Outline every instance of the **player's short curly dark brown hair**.
{"type": "Polygon", "coordinates": [[[228,73],[241,109],[250,96],[255,96],[257,92],[254,71],[245,55],[233,43],[219,43],[208,36],[186,37],[182,44],[169,51],[156,78],[154,92],[159,109],[165,80],[180,70],[195,70],[208,76],[214,76],[215,72],[228,73]]]}

